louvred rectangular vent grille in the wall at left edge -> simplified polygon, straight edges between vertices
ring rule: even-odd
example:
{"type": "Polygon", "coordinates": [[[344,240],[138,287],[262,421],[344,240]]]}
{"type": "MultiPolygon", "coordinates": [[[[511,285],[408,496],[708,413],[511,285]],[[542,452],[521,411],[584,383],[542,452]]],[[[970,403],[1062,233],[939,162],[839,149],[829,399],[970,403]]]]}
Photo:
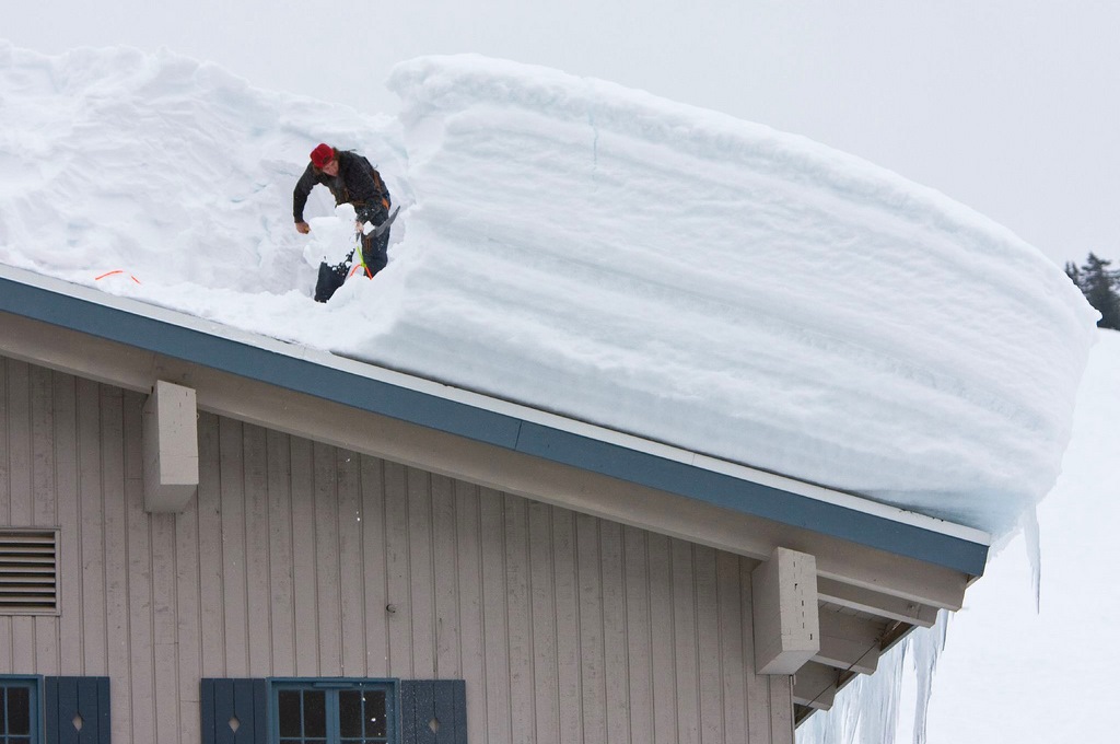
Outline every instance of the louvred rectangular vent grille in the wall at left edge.
{"type": "Polygon", "coordinates": [[[58,532],[0,530],[0,614],[58,612],[58,532]]]}

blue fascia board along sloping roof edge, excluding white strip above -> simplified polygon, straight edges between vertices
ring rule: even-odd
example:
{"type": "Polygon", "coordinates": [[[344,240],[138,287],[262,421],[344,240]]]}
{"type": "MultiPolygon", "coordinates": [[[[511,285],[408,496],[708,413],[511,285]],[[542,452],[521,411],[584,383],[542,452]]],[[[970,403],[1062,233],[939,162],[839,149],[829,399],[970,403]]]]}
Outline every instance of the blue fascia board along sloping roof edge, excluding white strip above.
{"type": "Polygon", "coordinates": [[[980,576],[988,546],[0,277],[0,310],[980,576]]]}

